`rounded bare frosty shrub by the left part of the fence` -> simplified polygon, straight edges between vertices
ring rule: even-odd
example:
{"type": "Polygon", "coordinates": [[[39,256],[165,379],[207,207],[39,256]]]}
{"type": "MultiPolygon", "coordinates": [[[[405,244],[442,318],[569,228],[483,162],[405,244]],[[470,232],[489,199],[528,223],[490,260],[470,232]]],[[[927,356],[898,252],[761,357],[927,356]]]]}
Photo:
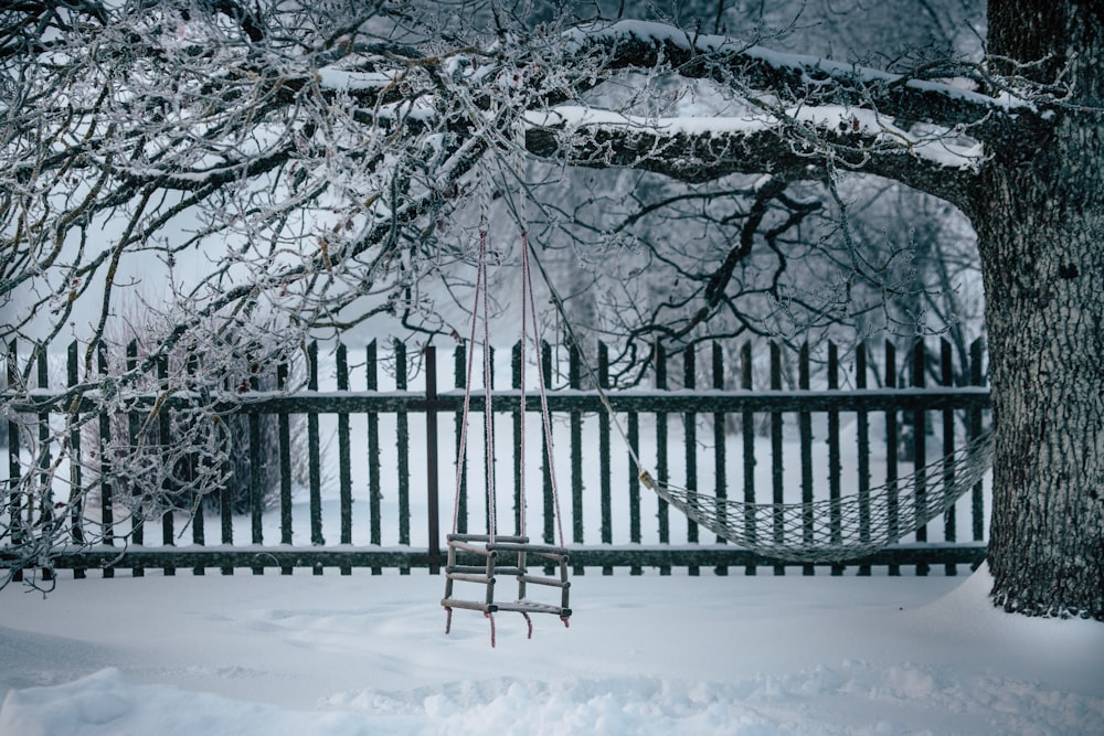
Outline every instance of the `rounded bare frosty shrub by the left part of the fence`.
{"type": "MultiPolygon", "coordinates": [[[[140,314],[150,312],[132,310],[126,344],[119,341],[107,356],[105,385],[128,363],[146,356],[142,337],[156,326],[149,323],[152,318],[140,314]]],[[[107,402],[103,418],[84,427],[83,441],[92,448],[85,459],[88,470],[99,473],[98,454],[104,452],[113,500],[136,518],[200,509],[217,512],[224,503],[234,514],[252,508],[251,417],[233,399],[248,392],[277,391],[278,363],[288,365],[288,385],[295,384],[300,371],[286,354],[285,337],[264,334],[255,326],[237,335],[212,332],[203,343],[173,351],[156,372],[107,402]]],[[[289,422],[291,481],[304,484],[306,417],[291,415],[289,422]]],[[[257,425],[261,502],[268,509],[279,499],[278,417],[258,414],[257,425]]],[[[89,500],[98,501],[95,491],[89,500]]]]}

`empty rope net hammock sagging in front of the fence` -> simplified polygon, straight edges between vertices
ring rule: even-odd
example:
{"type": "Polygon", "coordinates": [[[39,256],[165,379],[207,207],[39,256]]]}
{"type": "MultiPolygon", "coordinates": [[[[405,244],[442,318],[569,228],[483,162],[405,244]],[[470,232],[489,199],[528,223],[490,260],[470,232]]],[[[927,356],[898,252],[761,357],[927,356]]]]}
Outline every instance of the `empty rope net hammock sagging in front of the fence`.
{"type": "Polygon", "coordinates": [[[670,486],[641,473],[660,498],[722,538],[767,557],[854,559],[898,543],[981,482],[992,463],[985,434],[954,454],[868,492],[804,503],[746,503],[670,486]]]}

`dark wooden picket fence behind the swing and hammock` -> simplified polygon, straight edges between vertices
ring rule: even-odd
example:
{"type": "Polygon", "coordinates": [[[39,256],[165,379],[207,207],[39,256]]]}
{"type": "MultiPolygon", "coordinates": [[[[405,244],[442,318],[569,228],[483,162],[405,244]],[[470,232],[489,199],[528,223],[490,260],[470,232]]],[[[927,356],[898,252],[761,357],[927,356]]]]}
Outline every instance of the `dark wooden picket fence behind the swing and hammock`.
{"type": "MultiPolygon", "coordinates": [[[[10,384],[15,378],[12,373],[15,348],[14,343],[8,346],[10,384]]],[[[384,568],[397,568],[403,573],[428,568],[437,573],[445,559],[442,551],[445,534],[452,529],[460,533],[485,530],[489,513],[480,505],[485,480],[474,477],[468,462],[456,472],[465,398],[465,350],[463,346],[454,349],[454,378],[452,386],[444,388],[439,384],[440,358],[436,349],[425,348],[416,355],[407,354],[406,345],[401,342],[393,343],[390,349],[388,355],[381,355],[382,351],[372,342],[351,360],[348,348],[337,345],[332,353],[336,385],[320,391],[318,345],[310,344],[305,359],[306,390],[287,391],[288,367],[282,365],[277,370],[279,390],[227,392],[220,397],[217,410],[248,417],[251,440],[244,451],[250,454],[252,468],[259,468],[263,462],[263,440],[257,429],[262,418],[274,416],[277,425],[278,500],[275,508],[265,508],[262,502],[265,489],[259,488],[259,474],[253,473],[247,540],[235,538],[235,535],[244,536],[244,526],[229,502],[222,503],[219,513],[206,520],[202,513],[183,519],[181,514],[124,519],[117,513],[113,499],[116,491],[110,468],[102,468],[102,472],[96,473],[102,478],[88,482],[98,486],[100,503],[96,525],[104,533],[95,543],[88,543],[81,536],[79,525],[75,525],[72,544],[55,556],[54,566],[72,568],[78,577],[92,569],[110,576],[117,568],[129,569],[134,575],[141,575],[148,568],[159,568],[167,575],[174,574],[178,568],[190,568],[194,574],[203,574],[206,569],[232,574],[235,568],[248,568],[254,574],[266,568],[278,568],[283,574],[290,574],[295,568],[311,568],[315,574],[321,574],[325,568],[337,568],[342,574],[353,568],[368,568],[376,574],[384,568]],[[381,390],[381,363],[384,362],[390,367],[386,377],[393,386],[381,390]],[[413,364],[421,366],[418,390],[408,388],[413,364]],[[363,390],[350,387],[351,365],[363,371],[363,390]],[[296,459],[291,457],[291,427],[297,415],[306,417],[308,480],[302,489],[295,488],[291,472],[296,459]],[[354,452],[350,419],[358,416],[362,417],[358,420],[364,427],[365,439],[354,452]],[[331,423],[336,418],[336,458],[325,449],[320,418],[331,423]],[[389,422],[386,441],[381,440],[381,420],[384,419],[389,422]],[[442,419],[453,419],[450,431],[442,429],[442,419]],[[392,431],[393,455],[389,447],[392,431]],[[421,468],[418,473],[411,471],[412,446],[417,442],[424,442],[418,456],[424,452],[425,480],[424,488],[415,489],[412,488],[412,474],[422,476],[421,468]],[[446,445],[450,447],[446,449],[446,445]],[[384,457],[394,462],[386,473],[382,468],[384,457]],[[323,477],[335,466],[337,478],[330,483],[323,477]],[[354,483],[357,476],[363,480],[354,483]],[[455,488],[453,479],[457,477],[459,483],[455,488]],[[389,487],[392,483],[385,482],[385,478],[393,479],[393,487],[389,487]],[[332,521],[327,521],[323,514],[323,505],[327,490],[335,483],[340,513],[332,529],[332,521]],[[297,492],[307,497],[309,514],[306,518],[293,513],[297,492]],[[442,520],[440,510],[454,505],[449,503],[454,493],[456,522],[448,524],[449,520],[442,520]],[[390,518],[381,503],[384,498],[395,501],[390,518]],[[353,513],[354,501],[358,509],[367,501],[367,532],[354,530],[358,518],[353,513]],[[413,506],[417,509],[412,510],[413,506]],[[209,529],[213,523],[217,523],[216,531],[209,529]],[[302,537],[297,543],[296,534],[306,531],[300,529],[304,523],[309,525],[309,543],[302,537]],[[278,530],[278,540],[274,529],[278,530]],[[417,534],[412,534],[412,530],[417,534]],[[413,542],[414,536],[421,541],[413,542]]],[[[131,358],[132,352],[131,348],[131,358]]],[[[901,352],[887,342],[879,351],[878,371],[866,345],[848,355],[847,370],[834,344],[827,345],[817,358],[808,346],[795,355],[777,343],[744,342],[729,354],[720,343],[688,349],[677,355],[657,350],[650,358],[649,387],[606,388],[607,404],[591,386],[592,380],[599,386],[611,383],[611,360],[605,346],[599,345],[595,352],[593,372],[586,369],[578,351],[564,349],[563,352],[566,355],[561,364],[553,360],[553,350],[545,346],[540,370],[552,382],[553,365],[558,371],[565,367],[563,380],[550,392],[548,405],[556,425],[556,442],[561,446],[558,457],[567,458],[565,482],[560,487],[561,514],[566,520],[569,538],[565,544],[571,550],[576,574],[587,568],[601,568],[605,574],[615,568],[628,568],[633,573],[641,573],[645,568],[657,568],[661,573],[688,568],[697,574],[705,566],[719,574],[726,573],[730,567],[740,567],[746,574],[755,574],[764,567],[774,574],[784,574],[787,567],[795,565],[725,544],[712,535],[705,538],[692,522],[672,520],[662,501],[657,499],[657,504],[650,500],[655,498],[650,491],[641,491],[628,452],[624,445],[615,441],[618,429],[636,452],[643,452],[641,448],[647,450],[647,460],[660,479],[677,474],[678,482],[686,487],[698,488],[701,483],[718,497],[732,494],[745,502],[778,503],[793,499],[811,500],[815,488],[825,480],[831,498],[840,493],[869,492],[873,486],[911,472],[913,467],[949,456],[983,431],[989,409],[980,343],[972,345],[966,360],[956,363],[958,356],[945,341],[934,351],[924,342],[916,342],[901,352]],[[787,365],[796,365],[795,387],[784,387],[787,365]],[[955,385],[955,365],[965,366],[958,370],[957,383],[962,385],[955,385]],[[681,372],[677,380],[670,375],[672,366],[673,371],[681,372]],[[902,375],[907,375],[909,385],[901,385],[902,375]],[[931,381],[930,376],[935,380],[931,381]],[[766,385],[757,385],[760,382],[766,385]],[[676,383],[677,386],[672,385],[676,383]],[[701,386],[701,383],[708,385],[701,386]],[[814,426],[819,437],[815,437],[814,426]],[[841,426],[853,431],[853,444],[849,441],[845,446],[841,426]],[[584,427],[597,435],[596,446],[584,441],[584,427]],[[799,448],[796,457],[792,441],[795,429],[799,448]],[[822,440],[827,446],[827,468],[816,467],[815,440],[822,440]],[[938,447],[931,446],[935,441],[941,442],[938,447]],[[873,448],[880,442],[884,442],[884,449],[877,456],[879,463],[884,465],[884,476],[875,478],[872,477],[871,458],[875,455],[873,448]],[[562,447],[564,444],[566,447],[562,447]],[[769,448],[767,457],[756,457],[764,455],[765,447],[769,448]],[[560,450],[563,456],[559,455],[560,450]],[[597,455],[596,462],[592,454],[597,455]],[[847,474],[845,456],[853,488],[842,488],[841,479],[847,474]],[[739,457],[739,460],[730,462],[731,457],[739,457]],[[761,460],[769,463],[769,488],[756,483],[755,469],[761,460]],[[588,477],[595,466],[597,478],[588,477]],[[798,467],[799,476],[795,476],[794,469],[798,467]],[[790,469],[789,478],[787,468],[790,469]],[[624,490],[615,492],[615,483],[624,483],[624,490]],[[596,520],[592,519],[595,513],[596,520]],[[615,526],[619,530],[617,534],[615,526]],[[676,527],[678,533],[673,533],[676,527]]],[[[77,381],[77,345],[71,345],[70,385],[77,381]]],[[[7,393],[6,401],[13,413],[10,416],[38,417],[45,423],[51,413],[73,409],[71,403],[63,402],[65,391],[49,385],[46,364],[43,354],[39,359],[38,388],[30,398],[12,401],[12,392],[7,393]]],[[[106,361],[102,365],[106,366],[106,361]]],[[[523,422],[519,410],[522,370],[520,352],[514,349],[510,387],[493,387],[491,399],[492,412],[499,417],[496,423],[509,417],[514,447],[523,422]]],[[[535,393],[528,393],[528,412],[539,412],[535,393]]],[[[148,409],[157,404],[163,413],[190,401],[187,396],[166,401],[153,395],[144,399],[145,403],[138,402],[135,406],[148,409]]],[[[481,388],[473,392],[470,406],[473,416],[478,417],[484,408],[481,388]]],[[[82,405],[77,410],[89,408],[82,405]]],[[[28,431],[25,425],[24,422],[23,431],[28,431]]],[[[99,426],[102,433],[110,431],[106,420],[100,420],[99,426]]],[[[10,419],[9,482],[22,473],[39,471],[34,461],[29,465],[25,452],[21,455],[20,430],[10,419]]],[[[41,433],[43,440],[49,438],[44,427],[41,433]]],[[[473,429],[473,433],[478,434],[478,430],[473,429]]],[[[82,438],[74,436],[70,441],[78,446],[82,438]]],[[[88,449],[86,457],[94,456],[88,449]]],[[[520,463],[517,454],[511,460],[517,471],[520,463]]],[[[546,455],[541,465],[541,503],[539,509],[532,504],[530,515],[535,516],[539,535],[544,542],[559,543],[546,455]]],[[[486,473],[480,471],[480,474],[486,473]]],[[[71,473],[71,478],[76,479],[77,486],[82,482],[79,472],[71,473]]],[[[517,472],[512,491],[517,521],[521,502],[517,472]]],[[[299,502],[301,505],[301,499],[299,502]]],[[[890,574],[896,574],[907,565],[923,575],[933,565],[942,565],[947,574],[954,574],[959,565],[979,564],[985,556],[986,533],[981,486],[975,487],[963,504],[968,509],[969,519],[960,524],[956,510],[951,509],[941,524],[941,538],[928,538],[927,530],[922,527],[905,542],[849,562],[848,567],[858,574],[869,574],[873,566],[884,565],[890,574]],[[959,526],[967,531],[962,533],[959,526]]],[[[33,521],[32,504],[15,504],[14,508],[25,512],[28,521],[33,521]]],[[[0,519],[0,524],[8,522],[10,519],[0,519]]],[[[538,533],[531,534],[538,536],[538,533]]],[[[8,543],[10,536],[0,538],[8,543]]],[[[11,565],[13,559],[15,556],[0,546],[0,565],[11,565]]],[[[814,572],[813,565],[797,566],[806,574],[814,572]]],[[[846,569],[839,564],[829,567],[834,574],[846,569]]]]}

